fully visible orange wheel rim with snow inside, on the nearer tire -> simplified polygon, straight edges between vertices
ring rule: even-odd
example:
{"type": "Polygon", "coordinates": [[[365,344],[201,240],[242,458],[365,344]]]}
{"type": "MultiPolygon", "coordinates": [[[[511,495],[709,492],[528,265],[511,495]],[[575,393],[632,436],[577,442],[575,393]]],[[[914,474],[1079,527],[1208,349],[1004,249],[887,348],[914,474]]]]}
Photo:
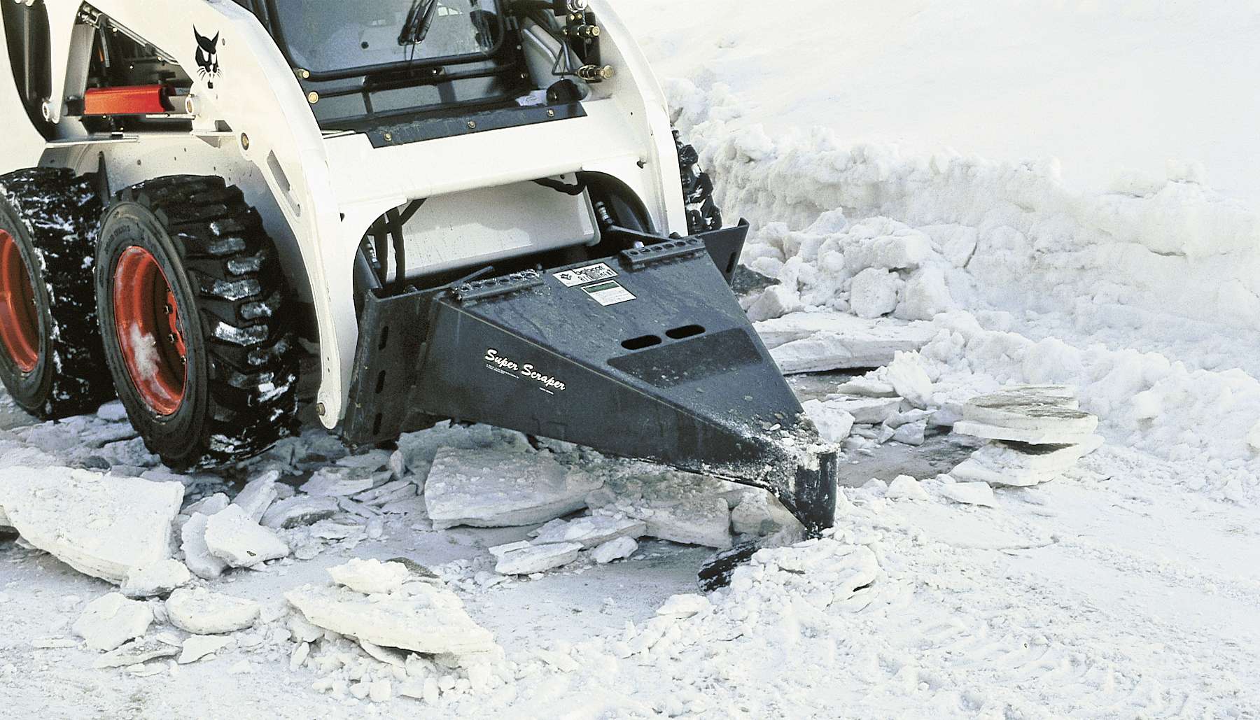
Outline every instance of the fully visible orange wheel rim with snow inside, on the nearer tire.
{"type": "Polygon", "coordinates": [[[188,373],[179,306],[166,274],[144,248],[127,248],[115,266],[113,323],[140,399],[159,415],[178,410],[188,373]]]}

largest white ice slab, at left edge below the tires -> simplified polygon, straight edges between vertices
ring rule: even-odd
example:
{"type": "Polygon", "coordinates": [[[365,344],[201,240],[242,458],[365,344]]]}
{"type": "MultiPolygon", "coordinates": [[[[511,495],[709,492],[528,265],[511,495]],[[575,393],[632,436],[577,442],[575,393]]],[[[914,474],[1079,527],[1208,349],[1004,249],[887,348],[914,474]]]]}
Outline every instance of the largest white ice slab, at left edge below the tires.
{"type": "Polygon", "coordinates": [[[170,556],[183,500],[179,482],[68,467],[11,467],[0,482],[0,507],[28,543],[111,583],[170,556]]]}

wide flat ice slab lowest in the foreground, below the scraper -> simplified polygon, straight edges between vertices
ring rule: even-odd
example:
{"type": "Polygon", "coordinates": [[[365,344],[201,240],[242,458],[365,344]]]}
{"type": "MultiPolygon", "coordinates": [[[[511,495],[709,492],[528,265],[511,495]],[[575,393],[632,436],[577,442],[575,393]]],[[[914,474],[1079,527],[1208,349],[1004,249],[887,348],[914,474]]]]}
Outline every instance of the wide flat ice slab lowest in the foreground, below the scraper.
{"type": "Polygon", "coordinates": [[[285,598],[311,624],[384,647],[457,657],[498,650],[455,593],[423,582],[370,598],[349,588],[304,585],[285,598]]]}

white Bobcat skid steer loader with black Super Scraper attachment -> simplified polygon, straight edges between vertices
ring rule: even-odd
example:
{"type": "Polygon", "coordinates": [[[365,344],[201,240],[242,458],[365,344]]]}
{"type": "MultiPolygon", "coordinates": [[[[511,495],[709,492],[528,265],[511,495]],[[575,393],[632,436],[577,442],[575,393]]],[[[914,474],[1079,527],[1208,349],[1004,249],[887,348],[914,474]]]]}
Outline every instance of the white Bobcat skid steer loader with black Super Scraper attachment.
{"type": "Polygon", "coordinates": [[[834,514],[697,155],[600,0],[0,0],[0,378],[178,470],[311,400],[475,420],[834,514]]]}

